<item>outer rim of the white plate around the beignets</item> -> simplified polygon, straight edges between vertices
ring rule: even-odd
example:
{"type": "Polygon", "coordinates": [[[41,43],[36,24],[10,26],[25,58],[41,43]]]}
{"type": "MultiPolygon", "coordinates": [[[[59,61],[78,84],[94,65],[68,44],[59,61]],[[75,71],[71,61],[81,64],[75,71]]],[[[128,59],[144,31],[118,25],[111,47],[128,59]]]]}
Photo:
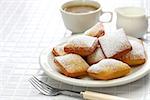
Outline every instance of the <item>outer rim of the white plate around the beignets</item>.
{"type": "MultiPolygon", "coordinates": [[[[128,36],[128,37],[132,38],[132,39],[136,39],[134,37],[130,37],[130,36],[128,36]]],[[[59,43],[61,43],[61,41],[59,43]]],[[[146,44],[146,43],[143,43],[143,44],[144,44],[144,47],[145,47],[145,51],[147,53],[148,52],[148,50],[147,50],[148,49],[147,48],[148,44],[146,44]]],[[[147,68],[147,69],[142,68],[143,71],[138,72],[139,73],[138,76],[137,76],[137,74],[132,75],[132,76],[130,76],[130,79],[128,79],[128,77],[125,76],[123,78],[109,80],[107,82],[102,81],[102,80],[94,80],[94,81],[92,80],[91,81],[91,80],[75,79],[75,78],[67,77],[67,76],[62,75],[62,74],[57,75],[55,73],[50,73],[50,70],[49,71],[46,70],[45,67],[50,67],[50,64],[48,63],[47,59],[48,59],[48,55],[49,55],[51,50],[52,50],[52,47],[51,48],[46,48],[41,52],[40,58],[39,58],[41,68],[52,79],[57,80],[57,81],[61,81],[61,82],[66,83],[66,84],[74,85],[74,86],[82,86],[82,87],[113,87],[113,86],[119,86],[119,85],[124,85],[124,84],[127,84],[127,83],[134,82],[134,81],[144,77],[145,75],[147,75],[150,71],[150,67],[147,68]]],[[[150,56],[150,55],[147,53],[147,59],[149,58],[148,56],[150,56]]],[[[147,64],[147,63],[148,63],[148,60],[146,61],[145,64],[147,64]]],[[[150,65],[150,62],[146,66],[149,66],[149,65],[150,65]]],[[[137,73],[137,72],[135,72],[135,73],[137,73]]]]}

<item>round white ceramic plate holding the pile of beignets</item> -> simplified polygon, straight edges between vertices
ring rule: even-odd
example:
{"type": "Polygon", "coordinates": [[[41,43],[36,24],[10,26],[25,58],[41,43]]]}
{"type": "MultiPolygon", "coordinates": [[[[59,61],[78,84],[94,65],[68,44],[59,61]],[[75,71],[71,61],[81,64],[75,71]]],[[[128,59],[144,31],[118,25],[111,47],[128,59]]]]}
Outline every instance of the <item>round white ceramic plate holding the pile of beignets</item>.
{"type": "MultiPolygon", "coordinates": [[[[70,38],[70,37],[69,37],[70,38]]],[[[136,39],[133,37],[129,37],[129,39],[136,39]]],[[[66,41],[66,39],[63,39],[66,41]]],[[[60,41],[59,43],[62,43],[60,41]]],[[[142,77],[144,77],[146,74],[149,73],[150,70],[150,51],[148,51],[148,45],[144,43],[145,51],[147,54],[147,61],[145,64],[133,68],[132,73],[129,75],[118,78],[118,79],[113,79],[113,80],[108,80],[108,81],[102,81],[102,80],[93,80],[90,78],[83,78],[83,79],[76,79],[76,78],[70,78],[67,77],[61,73],[59,73],[56,69],[56,65],[53,62],[54,61],[54,56],[51,53],[51,48],[43,50],[43,52],[40,55],[40,64],[44,72],[51,78],[61,81],[70,85],[75,85],[75,86],[83,86],[83,87],[111,87],[111,86],[118,86],[118,85],[123,85],[127,84],[133,81],[136,81],[142,77]]]]}

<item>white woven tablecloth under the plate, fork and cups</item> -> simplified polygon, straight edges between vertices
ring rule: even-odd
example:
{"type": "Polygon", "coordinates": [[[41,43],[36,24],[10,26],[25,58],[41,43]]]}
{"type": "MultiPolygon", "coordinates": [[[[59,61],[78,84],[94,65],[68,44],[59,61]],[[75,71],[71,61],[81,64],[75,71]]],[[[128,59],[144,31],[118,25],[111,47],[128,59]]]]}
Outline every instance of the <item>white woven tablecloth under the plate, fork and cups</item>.
{"type": "MultiPolygon", "coordinates": [[[[32,74],[41,71],[41,50],[52,46],[52,43],[65,35],[66,29],[59,12],[60,5],[65,1],[67,0],[0,0],[0,100],[78,100],[62,95],[41,95],[28,82],[32,74]]],[[[150,0],[99,2],[103,10],[140,6],[150,15],[150,0]]],[[[107,26],[115,26],[115,17],[107,26]]],[[[150,100],[150,75],[127,85],[111,88],[75,87],[56,82],[44,74],[41,76],[50,85],[59,88],[78,91],[87,89],[133,100],[150,100]]]]}

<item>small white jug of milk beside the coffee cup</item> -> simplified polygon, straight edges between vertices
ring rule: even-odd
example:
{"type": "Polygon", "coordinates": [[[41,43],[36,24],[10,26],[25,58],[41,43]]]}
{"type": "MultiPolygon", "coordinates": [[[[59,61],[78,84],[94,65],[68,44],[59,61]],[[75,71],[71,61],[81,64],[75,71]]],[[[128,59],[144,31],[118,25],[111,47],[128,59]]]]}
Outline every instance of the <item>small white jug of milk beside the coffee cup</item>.
{"type": "Polygon", "coordinates": [[[123,28],[127,35],[142,38],[148,32],[148,16],[140,7],[121,7],[117,13],[117,28],[123,28]]]}

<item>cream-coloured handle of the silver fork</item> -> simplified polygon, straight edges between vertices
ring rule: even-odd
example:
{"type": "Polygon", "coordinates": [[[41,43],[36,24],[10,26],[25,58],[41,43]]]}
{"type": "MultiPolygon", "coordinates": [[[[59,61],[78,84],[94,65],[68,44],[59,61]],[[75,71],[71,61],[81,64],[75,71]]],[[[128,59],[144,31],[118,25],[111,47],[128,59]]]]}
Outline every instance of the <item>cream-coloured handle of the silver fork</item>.
{"type": "Polygon", "coordinates": [[[81,92],[84,99],[89,100],[129,100],[127,98],[122,98],[118,96],[108,95],[108,94],[102,94],[97,92],[91,92],[91,91],[85,91],[81,92]]]}

